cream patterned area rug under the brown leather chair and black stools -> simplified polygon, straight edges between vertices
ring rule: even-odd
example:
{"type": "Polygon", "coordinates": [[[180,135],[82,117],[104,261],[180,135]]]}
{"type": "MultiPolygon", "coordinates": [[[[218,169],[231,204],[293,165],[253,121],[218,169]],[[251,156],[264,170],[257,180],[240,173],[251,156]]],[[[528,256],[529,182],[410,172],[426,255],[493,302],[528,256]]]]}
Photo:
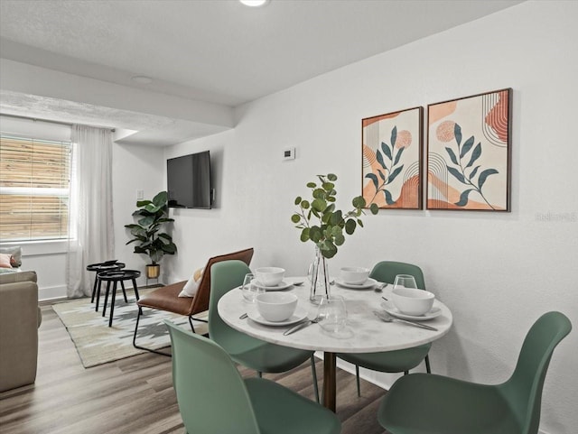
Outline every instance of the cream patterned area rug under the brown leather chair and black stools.
{"type": "MultiPolygon", "coordinates": [[[[139,294],[142,297],[149,291],[154,291],[154,288],[140,290],[139,294]]],[[[90,302],[89,298],[63,301],[52,305],[52,309],[68,330],[85,368],[144,353],[144,350],[133,346],[138,313],[133,291],[127,289],[126,296],[128,303],[125,302],[122,292],[117,293],[112,327],[108,327],[109,306],[107,306],[107,316],[102,317],[104,297],[101,297],[98,312],[95,311],[95,305],[90,302]]],[[[170,346],[171,339],[163,324],[163,319],[172,320],[183,328],[191,329],[187,317],[163,310],[143,309],[143,315],[138,324],[136,344],[154,349],[170,346]]],[[[195,332],[207,333],[205,323],[193,321],[193,325],[195,332]]]]}

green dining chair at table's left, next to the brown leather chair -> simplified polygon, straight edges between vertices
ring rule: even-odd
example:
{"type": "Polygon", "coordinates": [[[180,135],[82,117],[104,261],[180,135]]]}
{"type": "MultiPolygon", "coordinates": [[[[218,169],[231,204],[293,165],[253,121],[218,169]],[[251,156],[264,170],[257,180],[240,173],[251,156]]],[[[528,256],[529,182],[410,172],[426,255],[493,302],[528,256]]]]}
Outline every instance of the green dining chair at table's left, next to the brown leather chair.
{"type": "MultiPolygon", "coordinates": [[[[257,374],[282,373],[303,364],[310,359],[313,390],[315,399],[319,402],[319,388],[315,371],[313,351],[279,346],[250,337],[223,321],[217,310],[220,298],[233,288],[243,283],[247,272],[251,272],[242,261],[223,261],[212,265],[210,279],[209,300],[209,336],[219,346],[222,346],[228,355],[240,365],[255,369],[257,374]]],[[[247,319],[248,320],[248,319],[247,319]]]]}

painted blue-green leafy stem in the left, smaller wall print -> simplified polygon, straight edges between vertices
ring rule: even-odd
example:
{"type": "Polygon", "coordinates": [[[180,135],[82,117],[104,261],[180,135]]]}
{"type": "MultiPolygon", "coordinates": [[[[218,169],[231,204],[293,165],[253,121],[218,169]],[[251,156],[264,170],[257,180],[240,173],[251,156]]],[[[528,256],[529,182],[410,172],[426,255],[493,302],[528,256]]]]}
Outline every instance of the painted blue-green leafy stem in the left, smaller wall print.
{"type": "Polygon", "coordinates": [[[391,146],[385,142],[382,142],[381,151],[377,150],[376,152],[378,163],[383,169],[383,171],[378,169],[379,179],[378,175],[375,173],[368,173],[365,175],[366,178],[373,181],[373,185],[376,188],[376,194],[373,195],[373,198],[369,202],[372,205],[380,191],[383,191],[387,205],[394,205],[396,203],[396,201],[391,197],[391,192],[386,188],[387,185],[391,184],[397,178],[397,175],[399,175],[404,169],[403,164],[401,166],[397,166],[397,164],[399,164],[399,160],[401,159],[401,155],[404,153],[406,146],[400,146],[396,152],[396,141],[397,126],[394,126],[391,130],[391,146]],[[388,162],[384,160],[384,155],[386,156],[388,162]]]}

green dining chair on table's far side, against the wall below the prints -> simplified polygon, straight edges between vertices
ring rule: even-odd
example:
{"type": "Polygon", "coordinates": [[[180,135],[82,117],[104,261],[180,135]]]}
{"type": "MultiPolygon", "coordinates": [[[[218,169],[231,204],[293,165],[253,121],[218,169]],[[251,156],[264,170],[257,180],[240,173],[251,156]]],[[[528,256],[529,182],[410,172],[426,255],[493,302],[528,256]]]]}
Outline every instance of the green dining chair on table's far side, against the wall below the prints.
{"type": "MultiPolygon", "coordinates": [[[[382,261],[377,263],[369,273],[369,277],[378,282],[393,283],[397,274],[410,274],[414,276],[417,287],[425,289],[424,272],[417,265],[412,263],[396,263],[394,261],[382,261]]],[[[414,346],[413,348],[400,349],[396,351],[385,351],[380,353],[340,353],[340,359],[355,365],[355,375],[358,386],[358,396],[361,396],[359,384],[359,366],[372,371],[382,373],[408,374],[410,369],[425,361],[425,369],[430,374],[430,359],[427,354],[432,344],[414,346]]]]}

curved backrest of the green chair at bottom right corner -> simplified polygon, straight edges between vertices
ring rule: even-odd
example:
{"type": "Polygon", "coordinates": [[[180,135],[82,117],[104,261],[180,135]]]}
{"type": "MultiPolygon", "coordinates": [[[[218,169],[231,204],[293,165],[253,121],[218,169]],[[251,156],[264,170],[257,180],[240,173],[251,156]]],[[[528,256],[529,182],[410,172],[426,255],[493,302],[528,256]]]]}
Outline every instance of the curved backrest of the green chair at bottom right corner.
{"type": "Polygon", "coordinates": [[[570,330],[570,319],[563,313],[542,315],[527,332],[514,373],[499,386],[525,434],[538,432],[545,373],[555,347],[570,330]]]}

